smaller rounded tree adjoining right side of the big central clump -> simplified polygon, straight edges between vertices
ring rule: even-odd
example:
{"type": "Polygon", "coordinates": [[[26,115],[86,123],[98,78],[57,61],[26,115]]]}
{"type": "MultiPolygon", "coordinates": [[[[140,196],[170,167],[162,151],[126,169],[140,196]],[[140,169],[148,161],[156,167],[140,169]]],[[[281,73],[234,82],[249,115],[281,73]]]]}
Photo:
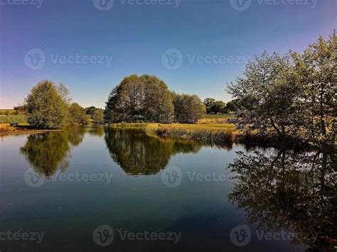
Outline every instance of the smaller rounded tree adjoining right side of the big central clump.
{"type": "Polygon", "coordinates": [[[205,114],[205,106],[197,95],[177,94],[172,92],[174,121],[194,124],[205,114]]]}

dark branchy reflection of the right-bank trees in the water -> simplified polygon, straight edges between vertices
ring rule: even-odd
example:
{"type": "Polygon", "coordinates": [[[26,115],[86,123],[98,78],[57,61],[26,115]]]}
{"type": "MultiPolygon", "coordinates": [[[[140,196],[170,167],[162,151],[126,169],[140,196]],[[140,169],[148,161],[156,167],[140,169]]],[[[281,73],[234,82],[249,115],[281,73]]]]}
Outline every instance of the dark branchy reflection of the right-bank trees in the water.
{"type": "Polygon", "coordinates": [[[336,243],[336,153],[255,150],[229,165],[241,177],[228,196],[264,231],[287,229],[293,243],[333,248],[336,243]],[[317,238],[316,238],[317,235],[317,238]]]}

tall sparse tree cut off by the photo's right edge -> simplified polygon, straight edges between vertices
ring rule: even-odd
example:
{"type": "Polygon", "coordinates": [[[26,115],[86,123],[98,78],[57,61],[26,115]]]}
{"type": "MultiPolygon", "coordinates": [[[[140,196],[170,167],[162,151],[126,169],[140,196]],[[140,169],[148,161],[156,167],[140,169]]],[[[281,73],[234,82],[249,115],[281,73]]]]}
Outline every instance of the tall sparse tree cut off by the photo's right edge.
{"type": "Polygon", "coordinates": [[[293,53],[296,82],[301,93],[296,104],[304,138],[319,144],[336,138],[336,32],[328,40],[319,38],[304,53],[293,53]]]}

